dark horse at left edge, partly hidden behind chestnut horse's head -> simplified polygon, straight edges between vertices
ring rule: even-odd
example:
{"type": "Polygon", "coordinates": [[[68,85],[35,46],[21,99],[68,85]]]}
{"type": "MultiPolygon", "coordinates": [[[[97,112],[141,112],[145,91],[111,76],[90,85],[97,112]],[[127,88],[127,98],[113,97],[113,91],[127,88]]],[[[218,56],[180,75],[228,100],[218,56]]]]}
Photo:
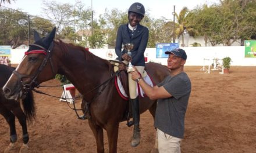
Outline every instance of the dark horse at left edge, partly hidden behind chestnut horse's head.
{"type": "Polygon", "coordinates": [[[27,119],[28,121],[32,121],[35,117],[35,108],[33,93],[31,91],[28,92],[25,99],[22,100],[24,112],[22,111],[18,101],[8,100],[3,96],[2,87],[8,81],[10,75],[12,75],[13,70],[15,70],[15,68],[0,64],[0,114],[3,115],[10,127],[10,145],[5,151],[15,148],[15,142],[17,141],[15,116],[19,120],[20,125],[22,125],[23,145],[22,148],[20,148],[20,151],[22,151],[23,148],[27,148],[27,143],[29,143],[27,119]]]}

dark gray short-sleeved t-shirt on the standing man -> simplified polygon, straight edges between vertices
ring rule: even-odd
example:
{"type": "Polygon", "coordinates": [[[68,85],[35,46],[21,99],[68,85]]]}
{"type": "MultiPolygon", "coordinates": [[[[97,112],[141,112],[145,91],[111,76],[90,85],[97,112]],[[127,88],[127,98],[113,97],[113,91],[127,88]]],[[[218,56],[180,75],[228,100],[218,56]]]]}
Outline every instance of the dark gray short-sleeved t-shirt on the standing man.
{"type": "Polygon", "coordinates": [[[163,86],[172,97],[158,99],[154,126],[170,136],[183,139],[184,119],[189,103],[191,82],[185,72],[166,77],[158,87],[163,86]]]}

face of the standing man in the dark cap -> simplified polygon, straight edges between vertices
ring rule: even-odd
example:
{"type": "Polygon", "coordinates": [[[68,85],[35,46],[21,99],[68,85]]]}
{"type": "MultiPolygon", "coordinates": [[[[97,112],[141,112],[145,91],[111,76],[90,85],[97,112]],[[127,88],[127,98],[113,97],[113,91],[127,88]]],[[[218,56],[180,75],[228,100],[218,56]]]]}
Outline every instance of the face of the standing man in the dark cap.
{"type": "Polygon", "coordinates": [[[176,70],[177,68],[182,67],[185,64],[186,60],[182,57],[177,57],[175,54],[170,53],[167,60],[167,67],[170,70],[176,70]]]}

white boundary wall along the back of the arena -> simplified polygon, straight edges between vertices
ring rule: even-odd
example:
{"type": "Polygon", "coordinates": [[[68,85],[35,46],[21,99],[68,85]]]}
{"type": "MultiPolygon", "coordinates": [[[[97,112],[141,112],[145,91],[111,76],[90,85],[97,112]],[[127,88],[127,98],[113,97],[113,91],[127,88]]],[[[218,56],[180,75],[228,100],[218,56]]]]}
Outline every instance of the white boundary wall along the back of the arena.
{"type": "MultiPolygon", "coordinates": [[[[223,59],[229,56],[232,59],[231,65],[236,66],[256,66],[256,57],[244,57],[244,46],[216,46],[216,47],[187,47],[183,48],[187,53],[186,65],[203,65],[204,59],[209,59],[214,63],[214,59],[223,59]]],[[[12,49],[10,60],[12,64],[18,64],[27,49],[12,49]]],[[[102,59],[116,59],[115,49],[90,49],[90,52],[102,59]]],[[[147,48],[145,57],[148,61],[154,61],[163,65],[167,64],[166,58],[156,58],[156,49],[147,48]]]]}

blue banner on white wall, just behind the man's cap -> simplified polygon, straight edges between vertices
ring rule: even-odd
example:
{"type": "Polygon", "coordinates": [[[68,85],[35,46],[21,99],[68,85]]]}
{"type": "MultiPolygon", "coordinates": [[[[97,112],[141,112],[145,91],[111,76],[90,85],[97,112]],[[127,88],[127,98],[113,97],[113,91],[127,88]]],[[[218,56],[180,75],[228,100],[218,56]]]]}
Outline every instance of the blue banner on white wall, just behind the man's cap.
{"type": "Polygon", "coordinates": [[[155,45],[157,49],[156,58],[168,58],[168,54],[165,54],[166,51],[179,48],[179,43],[157,43],[155,45]]]}

